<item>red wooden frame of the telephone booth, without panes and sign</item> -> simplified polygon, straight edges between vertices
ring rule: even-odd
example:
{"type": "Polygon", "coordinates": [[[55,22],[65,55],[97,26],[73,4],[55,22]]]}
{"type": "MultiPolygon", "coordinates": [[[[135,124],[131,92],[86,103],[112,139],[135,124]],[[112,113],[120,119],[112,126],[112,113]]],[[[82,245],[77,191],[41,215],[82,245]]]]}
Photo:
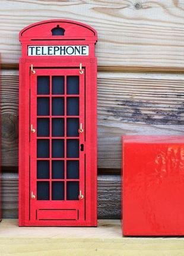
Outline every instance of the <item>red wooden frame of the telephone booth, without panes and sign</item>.
{"type": "MultiPolygon", "coordinates": [[[[20,226],[97,226],[97,112],[96,112],[96,79],[97,61],[94,55],[94,43],[97,33],[91,27],[67,20],[50,20],[31,24],[20,32],[22,44],[22,57],[20,58],[20,123],[19,123],[19,225],[20,226]],[[50,32],[59,24],[65,29],[64,36],[52,36],[50,32]],[[88,45],[88,56],[27,56],[27,47],[30,45],[88,45]],[[80,74],[80,63],[82,63],[83,74],[80,74]],[[31,73],[30,66],[33,64],[35,74],[31,73]],[[80,118],[83,123],[84,133],[79,137],[49,137],[50,146],[52,139],[79,139],[80,145],[84,144],[84,151],[80,151],[79,158],[66,157],[66,143],[64,147],[64,158],[37,158],[37,133],[30,131],[33,124],[37,130],[37,98],[50,97],[49,95],[37,95],[37,76],[79,76],[79,95],[65,94],[53,95],[62,97],[65,102],[65,113],[54,117],[80,118]],[[66,115],[66,98],[76,97],[80,99],[79,116],[66,115]],[[64,179],[52,179],[51,161],[49,179],[37,179],[37,160],[64,160],[64,179]],[[66,179],[66,160],[80,161],[79,179],[66,179]],[[37,181],[48,181],[50,184],[50,199],[37,199],[37,181]],[[66,186],[64,200],[52,200],[52,181],[78,181],[84,199],[66,200],[66,186]],[[36,196],[31,198],[31,191],[36,196]]],[[[52,87],[50,78],[50,88],[52,87]]],[[[40,116],[52,118],[51,104],[50,115],[40,116]]],[[[50,131],[52,129],[50,122],[50,131]]],[[[39,137],[40,139],[40,137],[39,137]]]]}

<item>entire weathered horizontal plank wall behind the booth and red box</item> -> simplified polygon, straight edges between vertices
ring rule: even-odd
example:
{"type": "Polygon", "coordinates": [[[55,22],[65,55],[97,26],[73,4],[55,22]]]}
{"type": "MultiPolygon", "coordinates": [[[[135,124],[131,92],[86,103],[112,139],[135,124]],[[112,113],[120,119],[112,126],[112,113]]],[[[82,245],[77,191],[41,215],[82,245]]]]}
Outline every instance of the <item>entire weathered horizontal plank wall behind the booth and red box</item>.
{"type": "Polygon", "coordinates": [[[0,15],[4,217],[17,217],[18,32],[66,18],[99,33],[99,217],[118,218],[120,136],[183,135],[184,2],[1,0],[0,15]]]}

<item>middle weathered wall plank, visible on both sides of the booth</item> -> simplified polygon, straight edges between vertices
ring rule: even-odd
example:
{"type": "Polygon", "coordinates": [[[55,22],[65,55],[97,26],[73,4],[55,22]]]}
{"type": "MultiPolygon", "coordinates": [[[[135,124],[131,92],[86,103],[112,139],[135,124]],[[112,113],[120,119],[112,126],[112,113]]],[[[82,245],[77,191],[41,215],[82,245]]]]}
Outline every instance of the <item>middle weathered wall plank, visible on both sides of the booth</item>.
{"type": "MultiPolygon", "coordinates": [[[[98,74],[98,167],[120,168],[122,135],[183,135],[184,74],[98,74]]],[[[18,166],[18,71],[2,71],[2,166],[18,166]]]]}

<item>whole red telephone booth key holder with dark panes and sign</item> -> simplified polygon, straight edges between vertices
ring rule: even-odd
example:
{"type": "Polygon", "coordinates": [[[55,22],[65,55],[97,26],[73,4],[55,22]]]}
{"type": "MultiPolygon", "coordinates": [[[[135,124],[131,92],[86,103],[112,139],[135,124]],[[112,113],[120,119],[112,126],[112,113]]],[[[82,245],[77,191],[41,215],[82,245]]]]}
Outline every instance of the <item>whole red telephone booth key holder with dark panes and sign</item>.
{"type": "Polygon", "coordinates": [[[20,226],[97,226],[97,61],[92,27],[20,32],[20,226]]]}

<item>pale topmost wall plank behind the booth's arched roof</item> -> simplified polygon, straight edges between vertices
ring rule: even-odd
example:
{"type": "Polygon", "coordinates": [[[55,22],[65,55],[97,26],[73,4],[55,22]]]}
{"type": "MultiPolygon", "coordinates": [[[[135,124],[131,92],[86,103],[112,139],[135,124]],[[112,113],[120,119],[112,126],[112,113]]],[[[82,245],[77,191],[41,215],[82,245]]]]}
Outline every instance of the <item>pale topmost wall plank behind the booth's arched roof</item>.
{"type": "Polygon", "coordinates": [[[184,68],[182,0],[44,1],[1,0],[0,52],[3,64],[20,57],[18,32],[53,18],[77,20],[99,33],[101,70],[116,67],[184,68]]]}

